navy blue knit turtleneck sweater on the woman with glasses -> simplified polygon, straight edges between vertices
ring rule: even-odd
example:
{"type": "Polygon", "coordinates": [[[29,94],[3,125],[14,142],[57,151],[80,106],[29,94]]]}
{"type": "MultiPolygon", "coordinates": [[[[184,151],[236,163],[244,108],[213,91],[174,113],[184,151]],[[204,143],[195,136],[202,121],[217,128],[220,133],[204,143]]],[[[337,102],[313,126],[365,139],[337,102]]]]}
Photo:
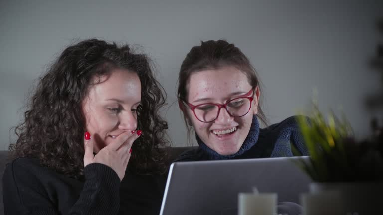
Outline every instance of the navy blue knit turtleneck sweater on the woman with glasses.
{"type": "Polygon", "coordinates": [[[239,151],[232,155],[224,156],[218,154],[206,146],[197,135],[195,136],[199,147],[195,150],[184,152],[175,161],[291,157],[294,156],[292,146],[301,155],[308,155],[303,137],[299,131],[296,116],[260,129],[258,119],[254,115],[249,134],[239,151]]]}

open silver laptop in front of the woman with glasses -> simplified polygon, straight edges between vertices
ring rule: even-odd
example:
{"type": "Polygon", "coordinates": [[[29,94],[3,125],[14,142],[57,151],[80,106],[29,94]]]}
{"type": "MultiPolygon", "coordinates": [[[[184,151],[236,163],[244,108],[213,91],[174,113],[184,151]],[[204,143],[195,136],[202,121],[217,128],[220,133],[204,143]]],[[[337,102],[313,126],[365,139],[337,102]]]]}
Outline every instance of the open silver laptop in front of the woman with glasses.
{"type": "Polygon", "coordinates": [[[236,215],[238,193],[278,193],[299,203],[311,179],[293,160],[303,157],[175,162],[170,166],[160,215],[236,215]]]}

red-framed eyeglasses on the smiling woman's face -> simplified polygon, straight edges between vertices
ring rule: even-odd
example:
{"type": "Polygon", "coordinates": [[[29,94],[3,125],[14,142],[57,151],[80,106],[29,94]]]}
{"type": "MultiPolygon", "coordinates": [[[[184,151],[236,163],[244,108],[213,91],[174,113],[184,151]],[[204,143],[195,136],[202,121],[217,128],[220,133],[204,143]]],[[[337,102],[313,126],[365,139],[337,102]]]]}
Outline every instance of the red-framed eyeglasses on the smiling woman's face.
{"type": "Polygon", "coordinates": [[[245,95],[229,100],[225,104],[203,103],[195,106],[183,100],[182,102],[194,112],[195,117],[199,121],[212,122],[218,118],[221,108],[225,108],[232,117],[242,117],[246,115],[250,111],[251,103],[254,99],[253,96],[250,96],[253,92],[254,88],[245,95]]]}

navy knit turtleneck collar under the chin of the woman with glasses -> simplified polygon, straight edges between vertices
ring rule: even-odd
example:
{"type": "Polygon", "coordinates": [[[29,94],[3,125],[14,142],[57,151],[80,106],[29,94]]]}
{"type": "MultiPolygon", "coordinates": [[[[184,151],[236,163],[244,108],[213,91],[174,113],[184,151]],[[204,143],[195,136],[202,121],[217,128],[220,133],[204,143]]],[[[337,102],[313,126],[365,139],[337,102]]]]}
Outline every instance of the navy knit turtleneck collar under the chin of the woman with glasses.
{"type": "Polygon", "coordinates": [[[256,115],[253,115],[253,121],[251,122],[251,127],[249,134],[247,135],[245,141],[243,142],[241,148],[236,152],[235,154],[231,155],[220,155],[211,148],[209,148],[199,137],[197,134],[195,134],[195,138],[197,140],[197,143],[199,145],[199,148],[202,149],[204,152],[206,152],[213,160],[225,160],[225,159],[232,159],[236,156],[244,154],[246,151],[251,149],[256,142],[258,141],[259,137],[259,122],[256,115]]]}

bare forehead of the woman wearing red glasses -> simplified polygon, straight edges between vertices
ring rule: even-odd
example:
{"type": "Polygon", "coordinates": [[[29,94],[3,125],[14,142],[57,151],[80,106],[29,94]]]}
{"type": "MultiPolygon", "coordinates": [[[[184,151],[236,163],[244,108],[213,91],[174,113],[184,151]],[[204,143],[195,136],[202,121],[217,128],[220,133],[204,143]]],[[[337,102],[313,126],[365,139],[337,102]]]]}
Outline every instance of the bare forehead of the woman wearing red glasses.
{"type": "Polygon", "coordinates": [[[188,97],[224,96],[237,91],[249,91],[247,76],[235,67],[202,70],[193,73],[188,82],[188,97]]]}

